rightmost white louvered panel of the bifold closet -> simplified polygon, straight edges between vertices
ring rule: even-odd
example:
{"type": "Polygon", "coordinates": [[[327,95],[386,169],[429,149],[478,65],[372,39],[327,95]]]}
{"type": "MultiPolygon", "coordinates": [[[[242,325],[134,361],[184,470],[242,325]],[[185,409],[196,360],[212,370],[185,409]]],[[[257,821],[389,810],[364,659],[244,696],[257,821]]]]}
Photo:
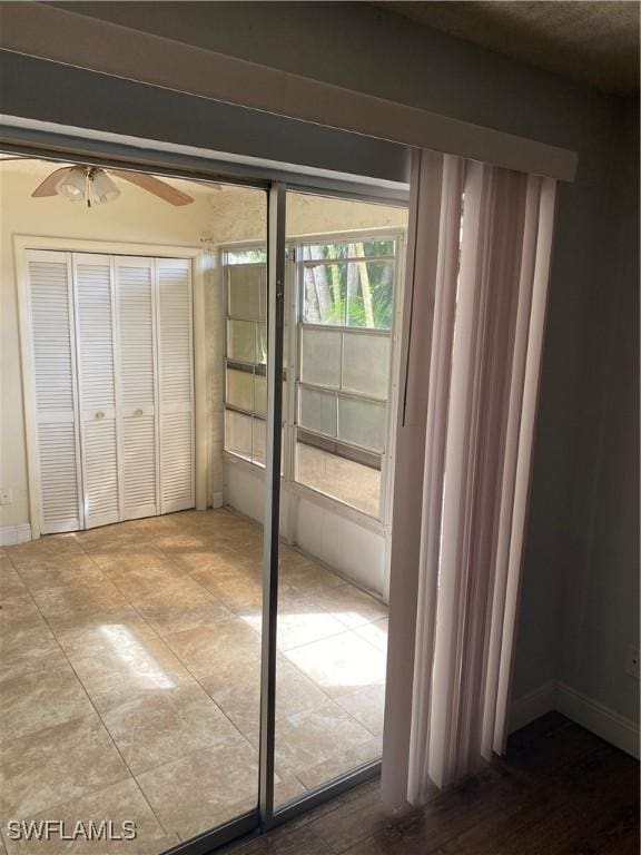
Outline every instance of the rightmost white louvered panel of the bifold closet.
{"type": "Polygon", "coordinates": [[[160,513],[193,508],[194,348],[190,263],[157,258],[160,513]]]}

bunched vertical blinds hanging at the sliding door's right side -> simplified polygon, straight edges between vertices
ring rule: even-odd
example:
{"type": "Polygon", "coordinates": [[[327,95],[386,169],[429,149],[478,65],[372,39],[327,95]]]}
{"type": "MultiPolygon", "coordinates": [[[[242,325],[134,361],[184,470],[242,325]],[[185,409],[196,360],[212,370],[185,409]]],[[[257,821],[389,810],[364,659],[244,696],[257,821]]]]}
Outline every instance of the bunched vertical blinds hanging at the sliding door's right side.
{"type": "MultiPolygon", "coordinates": [[[[410,283],[414,292],[434,283],[434,303],[411,318],[432,332],[428,383],[406,389],[410,412],[427,392],[416,440],[425,460],[421,553],[416,584],[406,586],[417,590],[414,638],[404,636],[411,739],[406,757],[384,756],[387,793],[398,797],[404,780],[414,804],[505,745],[555,198],[552,179],[448,156],[440,174],[421,167],[421,178],[434,181],[440,218],[424,218],[418,236],[424,245],[437,238],[436,273],[424,258],[410,283]]],[[[410,328],[404,336],[411,365],[421,343],[410,328]]],[[[397,478],[395,508],[410,489],[397,478]]],[[[394,667],[403,652],[400,642],[394,649],[395,612],[412,616],[402,589],[396,598],[392,591],[394,667]]]]}

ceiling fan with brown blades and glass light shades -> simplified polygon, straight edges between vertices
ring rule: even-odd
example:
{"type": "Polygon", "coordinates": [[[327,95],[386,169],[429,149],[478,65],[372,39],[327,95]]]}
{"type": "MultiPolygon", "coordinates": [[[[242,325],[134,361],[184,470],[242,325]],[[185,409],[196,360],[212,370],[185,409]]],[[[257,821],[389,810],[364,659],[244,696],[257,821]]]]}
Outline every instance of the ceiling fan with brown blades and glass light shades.
{"type": "Polygon", "coordinates": [[[111,176],[135,184],[170,205],[189,205],[194,202],[188,194],[147,173],[129,173],[121,169],[109,169],[108,173],[95,166],[63,166],[61,169],[55,169],[36,187],[31,196],[62,196],[71,202],[86,200],[88,207],[103,205],[120,195],[111,176]]]}

